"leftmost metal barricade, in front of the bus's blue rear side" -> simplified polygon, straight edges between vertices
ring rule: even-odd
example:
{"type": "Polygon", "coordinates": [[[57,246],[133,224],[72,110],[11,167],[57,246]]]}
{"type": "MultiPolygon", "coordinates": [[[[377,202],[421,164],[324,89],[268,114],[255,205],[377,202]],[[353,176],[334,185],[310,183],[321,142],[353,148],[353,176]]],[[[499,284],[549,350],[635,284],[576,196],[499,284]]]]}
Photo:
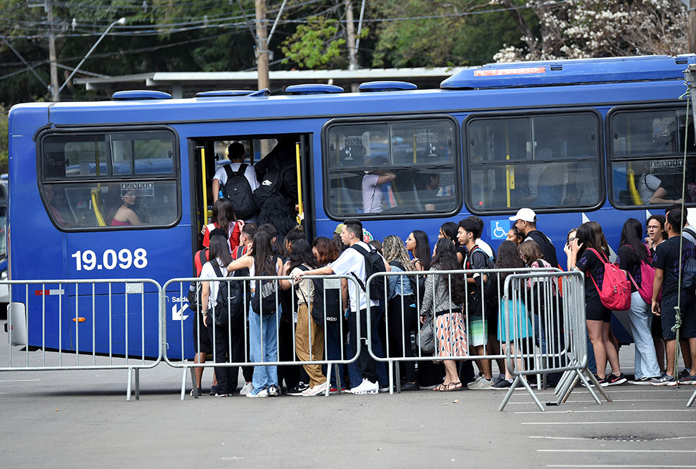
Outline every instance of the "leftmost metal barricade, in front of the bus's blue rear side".
{"type": "Polygon", "coordinates": [[[150,278],[0,281],[8,285],[8,361],[0,371],[127,369],[162,361],[160,284],[150,278]],[[13,347],[24,347],[15,352],[13,347]],[[34,354],[32,350],[40,350],[34,354]]]}

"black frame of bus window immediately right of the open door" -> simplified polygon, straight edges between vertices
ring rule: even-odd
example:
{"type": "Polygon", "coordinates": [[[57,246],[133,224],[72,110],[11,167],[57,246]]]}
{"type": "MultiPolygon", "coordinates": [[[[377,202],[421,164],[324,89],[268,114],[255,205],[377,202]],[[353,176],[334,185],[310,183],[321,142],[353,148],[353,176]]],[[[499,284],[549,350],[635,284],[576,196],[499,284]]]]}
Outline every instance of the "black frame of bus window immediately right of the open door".
{"type": "MultiPolygon", "coordinates": [[[[347,218],[360,218],[361,220],[401,220],[401,219],[427,219],[427,218],[446,218],[457,215],[461,212],[464,205],[464,190],[462,186],[463,174],[462,174],[462,152],[461,152],[461,129],[459,126],[459,121],[456,117],[451,114],[413,114],[413,115],[369,115],[365,117],[335,117],[326,121],[321,127],[321,176],[322,176],[322,201],[324,213],[326,216],[333,221],[344,221],[347,218]],[[424,121],[424,120],[449,120],[452,124],[453,132],[453,144],[454,158],[452,162],[452,167],[455,174],[455,203],[452,210],[447,212],[417,212],[413,214],[403,213],[403,214],[366,214],[366,213],[354,213],[354,214],[335,214],[333,212],[333,207],[331,207],[331,197],[330,197],[330,161],[329,161],[329,148],[328,148],[328,132],[332,127],[354,124],[354,125],[370,125],[370,124],[391,124],[392,122],[414,122],[414,121],[424,121]]],[[[449,166],[448,166],[449,167],[449,166]]]]}

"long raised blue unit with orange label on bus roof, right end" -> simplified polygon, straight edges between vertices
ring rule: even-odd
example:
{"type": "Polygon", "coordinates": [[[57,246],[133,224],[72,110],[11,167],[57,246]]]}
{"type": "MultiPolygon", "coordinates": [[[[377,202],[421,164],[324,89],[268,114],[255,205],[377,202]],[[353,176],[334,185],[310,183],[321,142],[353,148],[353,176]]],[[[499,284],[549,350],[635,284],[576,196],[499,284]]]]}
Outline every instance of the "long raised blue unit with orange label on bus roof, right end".
{"type": "Polygon", "coordinates": [[[695,62],[695,54],[686,54],[489,63],[458,72],[444,80],[440,88],[520,88],[683,79],[684,65],[695,62]]]}

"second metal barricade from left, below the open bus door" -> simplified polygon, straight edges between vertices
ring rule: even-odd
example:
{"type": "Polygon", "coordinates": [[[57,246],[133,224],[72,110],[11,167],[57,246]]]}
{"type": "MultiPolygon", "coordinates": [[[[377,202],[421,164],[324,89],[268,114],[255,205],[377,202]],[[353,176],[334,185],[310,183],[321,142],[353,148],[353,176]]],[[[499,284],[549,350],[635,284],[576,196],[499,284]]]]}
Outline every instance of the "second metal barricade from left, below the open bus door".
{"type": "MultiPolygon", "coordinates": [[[[163,337],[163,357],[164,361],[175,368],[183,368],[181,377],[181,399],[186,396],[186,376],[190,373],[193,385],[193,395],[198,398],[196,391],[195,368],[238,368],[245,366],[292,366],[292,365],[318,365],[326,366],[326,395],[329,394],[332,368],[338,373],[338,366],[350,364],[359,358],[360,347],[355,347],[355,350],[348,350],[344,342],[346,336],[346,328],[344,326],[344,308],[340,300],[340,290],[342,282],[348,283],[349,288],[356,289],[356,295],[362,295],[359,283],[352,276],[302,276],[299,282],[321,281],[323,285],[323,294],[321,298],[312,300],[312,309],[316,302],[321,301],[321,309],[323,310],[323,320],[318,322],[313,319],[310,314],[311,310],[298,311],[297,300],[298,295],[295,291],[295,281],[290,276],[230,276],[222,278],[173,278],[167,281],[162,291],[162,309],[167,310],[169,305],[167,302],[172,302],[172,311],[179,311],[179,315],[172,318],[172,321],[167,320],[164,323],[163,337]],[[273,287],[271,298],[273,304],[279,305],[278,309],[272,314],[257,314],[254,312],[254,307],[250,306],[252,302],[252,285],[251,282],[271,282],[273,287]],[[201,296],[202,288],[199,292],[199,283],[208,282],[227,282],[228,283],[228,301],[227,311],[223,311],[223,316],[228,318],[227,321],[214,321],[209,311],[207,314],[207,326],[203,326],[201,313],[201,296]],[[234,285],[236,284],[236,285],[234,285]],[[285,288],[283,288],[285,287],[285,288]],[[188,293],[193,291],[193,298],[196,302],[195,309],[189,307],[188,293]],[[281,293],[287,290],[287,293],[281,293]],[[338,290],[338,303],[331,304],[330,297],[333,295],[330,290],[338,290]],[[283,295],[287,295],[288,299],[285,302],[286,306],[290,305],[290,311],[283,310],[283,295]],[[237,300],[235,296],[238,296],[237,300]],[[307,321],[307,327],[304,328],[304,322],[296,322],[298,315],[302,313],[302,319],[307,321]],[[307,317],[304,317],[307,314],[307,317]],[[259,317],[260,316],[260,317],[259,317]],[[264,317],[269,319],[264,321],[264,317]],[[253,322],[252,322],[253,321],[253,322]],[[281,359],[279,353],[281,347],[286,348],[288,344],[281,342],[281,336],[278,330],[281,328],[281,321],[289,321],[292,334],[292,359],[281,359]],[[258,322],[258,330],[255,326],[258,322]],[[265,323],[265,325],[264,325],[265,323]],[[252,330],[252,324],[254,329],[252,330]],[[307,351],[307,359],[299,359],[297,356],[297,328],[302,327],[299,338],[302,339],[301,349],[307,351]],[[316,325],[316,326],[315,326],[316,325]],[[304,330],[307,330],[307,335],[304,335],[304,330]],[[211,352],[213,356],[212,362],[192,363],[188,361],[194,354],[194,349],[202,350],[205,347],[205,334],[210,340],[211,352]],[[270,337],[269,335],[270,334],[270,337]],[[270,342],[266,341],[269,338],[270,342]],[[307,342],[304,342],[304,338],[307,342]],[[219,342],[217,346],[215,342],[219,342]],[[316,341],[322,342],[321,352],[316,349],[316,341]],[[265,347],[265,349],[264,349],[265,347]],[[268,352],[268,353],[266,353],[268,352]],[[321,358],[317,357],[321,353],[321,358]],[[260,357],[259,357],[260,355],[260,357]],[[252,359],[254,356],[254,359],[252,359]],[[272,359],[275,356],[275,359],[272,359]],[[316,357],[316,358],[315,358],[316,357]]],[[[210,283],[208,283],[210,290],[210,283]]],[[[260,283],[259,283],[260,285],[260,283]]],[[[314,288],[314,284],[313,284],[314,288]]],[[[315,290],[316,293],[316,290],[315,290]]],[[[210,295],[210,293],[209,293],[210,295]]],[[[306,300],[309,299],[305,299],[306,300]]],[[[261,304],[262,313],[264,311],[264,303],[261,304]]],[[[210,310],[210,308],[207,308],[210,310]]],[[[316,313],[316,311],[315,311],[316,313]]],[[[287,322],[284,326],[287,327],[287,322]]],[[[360,335],[360,323],[357,322],[356,335],[360,335]]],[[[352,340],[352,345],[356,344],[356,340],[352,340]]],[[[231,379],[238,379],[233,376],[231,379]]],[[[340,376],[336,376],[338,392],[341,390],[340,376]]],[[[276,383],[279,384],[279,383],[276,383]]]]}

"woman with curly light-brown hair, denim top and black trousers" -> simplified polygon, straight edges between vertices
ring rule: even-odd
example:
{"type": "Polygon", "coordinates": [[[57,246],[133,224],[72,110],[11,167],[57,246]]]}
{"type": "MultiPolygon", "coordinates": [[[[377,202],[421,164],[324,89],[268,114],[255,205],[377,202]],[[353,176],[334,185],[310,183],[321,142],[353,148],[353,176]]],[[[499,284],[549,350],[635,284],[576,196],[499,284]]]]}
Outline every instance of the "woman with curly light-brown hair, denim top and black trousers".
{"type": "MultiPolygon", "coordinates": [[[[411,272],[413,264],[408,257],[404,243],[398,236],[390,235],[382,243],[384,257],[394,272],[411,272]]],[[[389,356],[413,356],[411,335],[418,330],[418,311],[415,309],[415,296],[408,276],[388,276],[389,295],[387,301],[387,335],[389,337],[389,356]]],[[[402,391],[418,390],[418,377],[415,362],[401,361],[402,391]]]]}

